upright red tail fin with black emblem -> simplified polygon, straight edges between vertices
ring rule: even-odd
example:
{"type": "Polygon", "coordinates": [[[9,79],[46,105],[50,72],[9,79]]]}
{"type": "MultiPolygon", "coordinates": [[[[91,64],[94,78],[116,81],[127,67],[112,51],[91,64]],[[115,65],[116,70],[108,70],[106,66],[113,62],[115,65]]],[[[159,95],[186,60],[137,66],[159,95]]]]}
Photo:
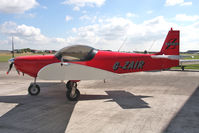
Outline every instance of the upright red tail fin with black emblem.
{"type": "Polygon", "coordinates": [[[171,30],[168,32],[167,37],[164,41],[162,49],[157,55],[179,55],[180,45],[180,31],[171,30]]]}

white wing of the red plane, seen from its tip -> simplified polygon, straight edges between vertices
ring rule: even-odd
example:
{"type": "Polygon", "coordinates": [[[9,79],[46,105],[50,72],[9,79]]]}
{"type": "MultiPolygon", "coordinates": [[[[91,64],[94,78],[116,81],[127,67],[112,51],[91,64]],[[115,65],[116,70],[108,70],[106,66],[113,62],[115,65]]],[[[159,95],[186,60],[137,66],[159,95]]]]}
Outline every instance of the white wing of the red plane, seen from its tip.
{"type": "Polygon", "coordinates": [[[53,63],[38,72],[38,77],[45,80],[103,80],[116,76],[106,70],[75,63],[53,63]]]}

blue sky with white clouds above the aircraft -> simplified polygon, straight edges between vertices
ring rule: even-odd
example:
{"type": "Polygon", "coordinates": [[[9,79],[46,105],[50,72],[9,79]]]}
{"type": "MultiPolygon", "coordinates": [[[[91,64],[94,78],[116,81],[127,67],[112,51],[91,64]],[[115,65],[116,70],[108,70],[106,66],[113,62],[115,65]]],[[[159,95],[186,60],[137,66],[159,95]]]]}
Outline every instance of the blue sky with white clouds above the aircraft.
{"type": "Polygon", "coordinates": [[[199,50],[198,0],[0,0],[0,49],[81,44],[159,51],[172,27],[180,51],[199,50]]]}

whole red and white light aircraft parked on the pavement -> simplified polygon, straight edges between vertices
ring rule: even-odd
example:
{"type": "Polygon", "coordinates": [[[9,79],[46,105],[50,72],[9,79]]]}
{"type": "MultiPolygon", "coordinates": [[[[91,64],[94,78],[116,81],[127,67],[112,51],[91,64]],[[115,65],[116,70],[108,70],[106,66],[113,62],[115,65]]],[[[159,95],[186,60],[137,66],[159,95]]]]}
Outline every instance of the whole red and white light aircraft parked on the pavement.
{"type": "Polygon", "coordinates": [[[104,80],[118,74],[168,69],[179,65],[179,31],[171,30],[162,49],[156,54],[138,54],[98,50],[84,45],[73,45],[59,50],[54,55],[21,56],[9,60],[18,72],[34,77],[30,95],[38,95],[40,87],[36,79],[68,80],[66,97],[77,101],[80,80],[104,80]]]}

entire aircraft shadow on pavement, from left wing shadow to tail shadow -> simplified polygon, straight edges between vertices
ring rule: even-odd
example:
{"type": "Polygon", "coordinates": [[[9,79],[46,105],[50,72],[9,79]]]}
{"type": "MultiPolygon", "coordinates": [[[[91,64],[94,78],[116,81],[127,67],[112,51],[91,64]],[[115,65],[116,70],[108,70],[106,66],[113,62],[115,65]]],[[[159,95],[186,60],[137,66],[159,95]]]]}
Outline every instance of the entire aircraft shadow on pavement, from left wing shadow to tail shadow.
{"type": "MultiPolygon", "coordinates": [[[[48,93],[0,96],[2,103],[18,104],[0,117],[0,132],[65,132],[77,102],[66,100],[65,90],[48,89],[47,84],[51,88],[61,87],[60,83],[39,83],[41,88],[44,87],[42,91],[48,93]]],[[[126,91],[106,93],[108,95],[81,95],[80,101],[107,99],[105,102],[116,102],[123,109],[149,108],[142,100],[149,96],[135,96],[126,91]]]]}

